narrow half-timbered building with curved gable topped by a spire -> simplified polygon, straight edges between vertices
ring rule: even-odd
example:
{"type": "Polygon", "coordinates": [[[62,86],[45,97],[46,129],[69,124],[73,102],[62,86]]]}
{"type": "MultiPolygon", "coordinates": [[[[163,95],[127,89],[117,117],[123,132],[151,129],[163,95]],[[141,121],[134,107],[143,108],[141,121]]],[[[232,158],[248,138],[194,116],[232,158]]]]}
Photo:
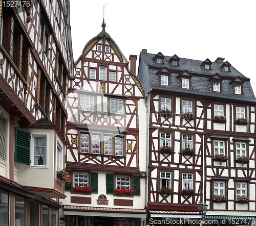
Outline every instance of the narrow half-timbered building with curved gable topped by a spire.
{"type": "MultiPolygon", "coordinates": [[[[137,56],[131,55],[135,64],[137,56]]],[[[132,68],[132,65],[131,65],[132,68]]],[[[144,225],[144,92],[115,41],[102,31],[83,48],[68,94],[66,225],[144,225]]]]}

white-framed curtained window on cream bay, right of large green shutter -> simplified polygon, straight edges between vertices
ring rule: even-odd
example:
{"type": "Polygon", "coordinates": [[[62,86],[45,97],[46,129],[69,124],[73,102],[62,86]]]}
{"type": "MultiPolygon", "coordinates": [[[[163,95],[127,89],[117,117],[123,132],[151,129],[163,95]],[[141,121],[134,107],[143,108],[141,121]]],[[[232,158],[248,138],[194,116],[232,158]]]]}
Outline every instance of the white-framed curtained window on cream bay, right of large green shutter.
{"type": "Polygon", "coordinates": [[[31,166],[48,166],[48,134],[32,134],[31,166]]]}

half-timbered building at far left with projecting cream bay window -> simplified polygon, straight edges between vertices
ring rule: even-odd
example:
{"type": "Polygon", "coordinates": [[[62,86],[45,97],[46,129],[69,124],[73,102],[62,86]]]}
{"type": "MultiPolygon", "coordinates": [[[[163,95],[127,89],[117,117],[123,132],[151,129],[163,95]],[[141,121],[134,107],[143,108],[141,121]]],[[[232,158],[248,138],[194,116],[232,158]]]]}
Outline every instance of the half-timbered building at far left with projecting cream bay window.
{"type": "Polygon", "coordinates": [[[59,225],[69,1],[0,1],[0,225],[59,225]]]}

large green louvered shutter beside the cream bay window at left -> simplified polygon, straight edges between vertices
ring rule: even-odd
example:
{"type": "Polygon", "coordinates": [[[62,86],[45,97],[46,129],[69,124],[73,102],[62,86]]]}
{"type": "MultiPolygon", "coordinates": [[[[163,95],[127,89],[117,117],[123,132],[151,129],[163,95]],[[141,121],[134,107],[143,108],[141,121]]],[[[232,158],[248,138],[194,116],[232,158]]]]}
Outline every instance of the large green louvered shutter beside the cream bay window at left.
{"type": "Polygon", "coordinates": [[[30,165],[30,132],[16,128],[15,162],[30,165]]]}

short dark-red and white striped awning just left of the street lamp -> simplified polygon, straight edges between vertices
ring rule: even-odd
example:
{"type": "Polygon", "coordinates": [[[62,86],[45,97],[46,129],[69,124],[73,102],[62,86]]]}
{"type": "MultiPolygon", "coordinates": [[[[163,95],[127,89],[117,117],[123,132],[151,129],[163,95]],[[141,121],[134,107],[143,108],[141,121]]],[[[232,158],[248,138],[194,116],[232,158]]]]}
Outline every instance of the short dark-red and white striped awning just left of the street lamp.
{"type": "Polygon", "coordinates": [[[191,211],[150,210],[150,216],[165,217],[165,218],[201,218],[198,212],[191,212],[191,211]]]}

